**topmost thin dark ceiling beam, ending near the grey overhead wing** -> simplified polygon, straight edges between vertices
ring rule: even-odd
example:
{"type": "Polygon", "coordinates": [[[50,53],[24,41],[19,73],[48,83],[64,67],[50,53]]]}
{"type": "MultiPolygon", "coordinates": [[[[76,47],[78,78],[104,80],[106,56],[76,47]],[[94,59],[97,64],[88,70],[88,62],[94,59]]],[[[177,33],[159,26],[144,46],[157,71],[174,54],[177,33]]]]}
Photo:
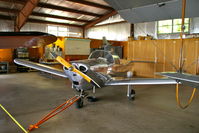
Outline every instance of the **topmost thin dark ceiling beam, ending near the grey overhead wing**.
{"type": "Polygon", "coordinates": [[[106,6],[106,5],[102,5],[102,4],[98,4],[98,3],[93,3],[93,2],[85,1],[85,0],[66,0],[66,1],[74,2],[74,3],[78,3],[78,4],[83,4],[83,5],[87,5],[87,6],[91,6],[91,7],[101,8],[101,9],[105,9],[105,10],[114,10],[110,6],[106,6]]]}

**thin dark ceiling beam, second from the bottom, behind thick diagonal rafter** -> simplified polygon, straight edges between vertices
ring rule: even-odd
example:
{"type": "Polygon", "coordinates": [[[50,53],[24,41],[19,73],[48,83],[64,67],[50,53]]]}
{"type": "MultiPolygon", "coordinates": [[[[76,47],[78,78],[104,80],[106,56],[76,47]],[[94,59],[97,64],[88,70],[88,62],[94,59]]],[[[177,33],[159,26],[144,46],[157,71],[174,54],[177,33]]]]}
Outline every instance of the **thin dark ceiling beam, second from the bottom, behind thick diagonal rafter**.
{"type": "MultiPolygon", "coordinates": [[[[16,14],[16,13],[19,12],[19,10],[0,7],[0,12],[8,12],[8,13],[14,13],[14,14],[16,14]]],[[[56,19],[70,20],[70,21],[76,21],[76,22],[82,22],[82,23],[91,22],[89,20],[84,20],[84,19],[76,19],[76,18],[70,18],[70,17],[63,17],[63,16],[51,15],[51,14],[45,14],[45,13],[39,13],[39,12],[32,12],[32,14],[30,16],[56,18],[56,19]]]]}

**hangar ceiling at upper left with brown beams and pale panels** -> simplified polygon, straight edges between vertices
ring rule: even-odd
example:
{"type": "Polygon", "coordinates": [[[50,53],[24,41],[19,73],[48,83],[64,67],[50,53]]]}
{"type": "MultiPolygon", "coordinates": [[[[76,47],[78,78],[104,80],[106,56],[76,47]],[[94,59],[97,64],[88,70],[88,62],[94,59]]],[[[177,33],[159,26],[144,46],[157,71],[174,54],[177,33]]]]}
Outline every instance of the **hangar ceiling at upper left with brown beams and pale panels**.
{"type": "Polygon", "coordinates": [[[103,0],[0,0],[0,19],[15,21],[15,31],[26,22],[87,29],[116,14],[103,0]]]}

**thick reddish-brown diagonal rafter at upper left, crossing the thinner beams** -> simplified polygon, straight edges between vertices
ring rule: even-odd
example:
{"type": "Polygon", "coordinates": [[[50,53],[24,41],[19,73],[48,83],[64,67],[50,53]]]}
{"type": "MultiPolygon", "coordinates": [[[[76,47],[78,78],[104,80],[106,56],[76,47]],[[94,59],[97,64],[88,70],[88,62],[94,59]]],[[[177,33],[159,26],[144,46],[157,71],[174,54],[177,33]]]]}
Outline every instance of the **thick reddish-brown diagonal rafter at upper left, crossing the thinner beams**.
{"type": "Polygon", "coordinates": [[[15,21],[15,31],[19,32],[26,23],[26,20],[39,3],[39,0],[28,0],[21,11],[18,13],[15,21]]]}

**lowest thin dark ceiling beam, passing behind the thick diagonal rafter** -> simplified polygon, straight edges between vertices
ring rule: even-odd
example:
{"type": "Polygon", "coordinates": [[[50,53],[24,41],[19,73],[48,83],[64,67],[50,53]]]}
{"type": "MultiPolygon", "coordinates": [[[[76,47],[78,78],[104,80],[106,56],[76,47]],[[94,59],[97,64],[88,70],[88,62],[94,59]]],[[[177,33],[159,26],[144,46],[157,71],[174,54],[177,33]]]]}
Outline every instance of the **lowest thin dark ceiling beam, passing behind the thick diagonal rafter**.
{"type": "MultiPolygon", "coordinates": [[[[11,20],[11,21],[13,20],[10,16],[5,16],[5,15],[0,15],[0,19],[2,19],[2,20],[11,20]]],[[[40,20],[40,19],[28,19],[27,22],[30,22],[30,23],[39,23],[39,24],[61,25],[61,26],[71,26],[71,27],[82,28],[81,25],[51,22],[51,21],[40,20]]]]}

